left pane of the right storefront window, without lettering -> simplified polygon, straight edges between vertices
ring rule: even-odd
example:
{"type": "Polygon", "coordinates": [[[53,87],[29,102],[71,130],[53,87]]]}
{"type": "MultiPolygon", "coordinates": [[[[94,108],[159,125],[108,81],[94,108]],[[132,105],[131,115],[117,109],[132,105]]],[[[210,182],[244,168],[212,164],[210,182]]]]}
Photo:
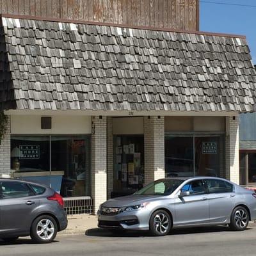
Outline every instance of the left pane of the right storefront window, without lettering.
{"type": "Polygon", "coordinates": [[[193,176],[193,137],[165,136],[166,177],[193,176]]]}

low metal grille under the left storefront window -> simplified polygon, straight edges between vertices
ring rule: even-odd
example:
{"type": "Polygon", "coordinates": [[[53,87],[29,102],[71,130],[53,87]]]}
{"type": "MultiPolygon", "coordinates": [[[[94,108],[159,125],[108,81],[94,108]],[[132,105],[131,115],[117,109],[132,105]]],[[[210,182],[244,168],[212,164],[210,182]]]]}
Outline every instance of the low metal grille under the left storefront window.
{"type": "Polygon", "coordinates": [[[64,210],[67,214],[92,214],[93,200],[90,196],[65,197],[64,210]]]}

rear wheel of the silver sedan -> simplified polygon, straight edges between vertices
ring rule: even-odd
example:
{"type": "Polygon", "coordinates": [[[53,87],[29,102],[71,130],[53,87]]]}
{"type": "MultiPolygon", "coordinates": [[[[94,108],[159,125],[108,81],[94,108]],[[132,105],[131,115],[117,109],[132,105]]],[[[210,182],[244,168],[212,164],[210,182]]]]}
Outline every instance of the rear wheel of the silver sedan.
{"type": "Polygon", "coordinates": [[[229,227],[234,231],[243,231],[249,223],[249,213],[243,206],[237,206],[230,216],[229,227]]]}

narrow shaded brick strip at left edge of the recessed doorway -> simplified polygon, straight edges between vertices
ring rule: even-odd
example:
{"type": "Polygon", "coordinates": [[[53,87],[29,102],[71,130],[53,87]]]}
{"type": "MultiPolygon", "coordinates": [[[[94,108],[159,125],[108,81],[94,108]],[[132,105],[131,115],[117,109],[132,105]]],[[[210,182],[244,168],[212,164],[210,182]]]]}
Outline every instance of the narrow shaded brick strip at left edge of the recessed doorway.
{"type": "Polygon", "coordinates": [[[107,118],[107,159],[108,159],[108,198],[111,196],[111,191],[113,191],[113,121],[112,117],[107,118]]]}

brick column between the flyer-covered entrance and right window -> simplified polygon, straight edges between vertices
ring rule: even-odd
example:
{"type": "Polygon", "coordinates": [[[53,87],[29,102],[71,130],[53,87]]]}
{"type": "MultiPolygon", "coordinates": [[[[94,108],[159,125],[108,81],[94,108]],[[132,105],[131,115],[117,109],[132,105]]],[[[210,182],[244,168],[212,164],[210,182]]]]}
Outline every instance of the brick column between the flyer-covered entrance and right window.
{"type": "Polygon", "coordinates": [[[164,178],[164,116],[144,118],[145,184],[164,178]]]}

